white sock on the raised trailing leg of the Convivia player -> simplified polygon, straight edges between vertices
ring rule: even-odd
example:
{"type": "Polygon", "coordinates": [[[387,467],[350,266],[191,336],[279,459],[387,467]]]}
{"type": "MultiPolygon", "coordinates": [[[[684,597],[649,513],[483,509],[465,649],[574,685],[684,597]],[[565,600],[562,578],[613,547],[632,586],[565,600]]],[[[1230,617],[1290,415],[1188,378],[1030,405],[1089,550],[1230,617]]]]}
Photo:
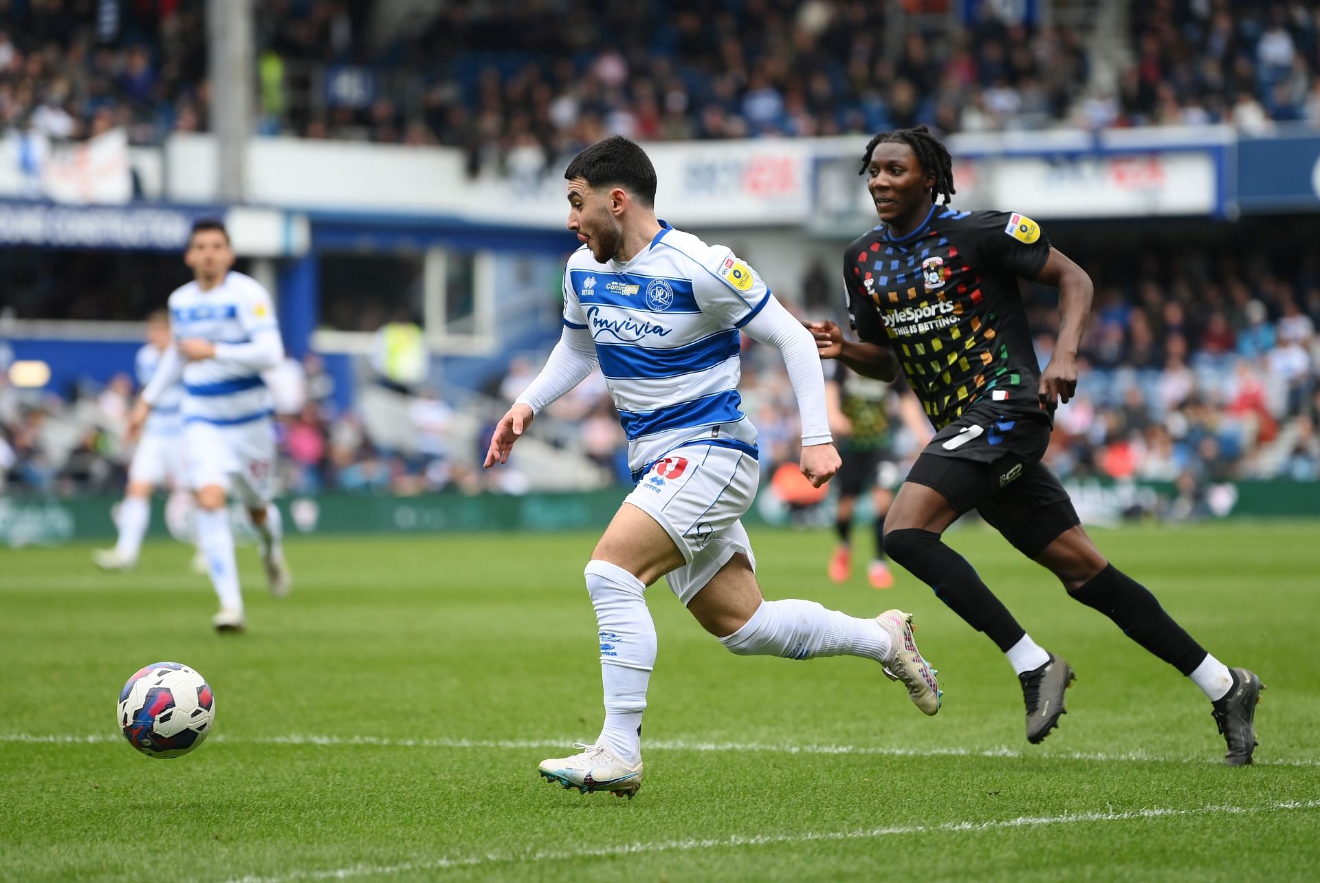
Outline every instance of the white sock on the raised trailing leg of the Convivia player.
{"type": "Polygon", "coordinates": [[[892,651],[888,632],[874,619],[797,599],[760,602],[751,619],[719,643],[739,656],[784,659],[862,656],[883,663],[892,651]]]}

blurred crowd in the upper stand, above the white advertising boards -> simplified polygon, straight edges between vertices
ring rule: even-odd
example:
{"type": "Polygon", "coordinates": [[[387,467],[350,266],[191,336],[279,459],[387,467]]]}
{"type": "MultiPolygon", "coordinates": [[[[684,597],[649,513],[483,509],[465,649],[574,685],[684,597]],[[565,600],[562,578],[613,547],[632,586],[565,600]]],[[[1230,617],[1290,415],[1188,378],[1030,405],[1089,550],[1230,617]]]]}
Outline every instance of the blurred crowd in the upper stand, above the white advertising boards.
{"type": "MultiPolygon", "coordinates": [[[[1320,125],[1320,9],[1307,3],[1134,4],[1113,92],[1092,83],[1077,30],[986,16],[892,42],[886,4],[865,0],[451,3],[389,34],[372,33],[370,5],[257,4],[259,132],[447,144],[477,169],[612,132],[1320,125]]],[[[202,0],[0,1],[0,129],[121,125],[136,143],[205,129],[205,17],[202,0]]]]}

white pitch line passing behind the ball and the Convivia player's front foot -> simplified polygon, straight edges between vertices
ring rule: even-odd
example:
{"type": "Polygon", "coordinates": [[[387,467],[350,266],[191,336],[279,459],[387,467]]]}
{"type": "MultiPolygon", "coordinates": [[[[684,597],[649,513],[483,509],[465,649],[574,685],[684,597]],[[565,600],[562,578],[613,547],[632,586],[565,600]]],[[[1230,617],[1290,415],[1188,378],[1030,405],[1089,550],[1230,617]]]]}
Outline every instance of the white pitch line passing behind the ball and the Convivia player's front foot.
{"type": "MultiPolygon", "coordinates": [[[[119,742],[123,736],[117,733],[92,735],[38,735],[30,733],[0,733],[0,743],[20,742],[29,744],[96,744],[102,742],[119,742]]],[[[308,735],[293,734],[280,736],[230,736],[214,735],[211,742],[226,742],[234,744],[288,744],[288,746],[325,746],[325,747],[354,747],[372,746],[378,748],[562,748],[572,744],[573,739],[391,739],[388,736],[334,736],[334,735],[308,735]]],[[[1170,758],[1164,755],[1144,754],[1140,751],[1126,754],[1104,754],[1092,751],[1060,751],[1036,752],[1020,751],[1018,748],[891,748],[884,746],[858,746],[858,744],[775,744],[764,742],[690,742],[686,739],[648,739],[648,751],[735,751],[735,752],[764,752],[764,754],[807,754],[807,755],[876,755],[883,758],[1030,758],[1044,760],[1097,760],[1101,763],[1209,763],[1221,764],[1218,758],[1170,758]]],[[[1294,759],[1259,759],[1255,766],[1269,767],[1320,767],[1320,759],[1294,758],[1294,759]]]]}

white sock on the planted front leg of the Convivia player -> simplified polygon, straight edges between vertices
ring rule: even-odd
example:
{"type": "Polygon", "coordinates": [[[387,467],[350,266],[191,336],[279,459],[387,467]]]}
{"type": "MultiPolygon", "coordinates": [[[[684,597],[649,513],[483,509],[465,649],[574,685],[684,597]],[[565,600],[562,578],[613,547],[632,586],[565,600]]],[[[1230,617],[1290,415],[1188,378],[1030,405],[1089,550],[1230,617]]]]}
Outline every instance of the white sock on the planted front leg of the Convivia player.
{"type": "Polygon", "coordinates": [[[642,759],[642,713],[656,664],[656,627],[647,610],[645,586],[607,561],[589,561],[586,590],[595,607],[605,688],[602,744],[628,763],[642,759]]]}

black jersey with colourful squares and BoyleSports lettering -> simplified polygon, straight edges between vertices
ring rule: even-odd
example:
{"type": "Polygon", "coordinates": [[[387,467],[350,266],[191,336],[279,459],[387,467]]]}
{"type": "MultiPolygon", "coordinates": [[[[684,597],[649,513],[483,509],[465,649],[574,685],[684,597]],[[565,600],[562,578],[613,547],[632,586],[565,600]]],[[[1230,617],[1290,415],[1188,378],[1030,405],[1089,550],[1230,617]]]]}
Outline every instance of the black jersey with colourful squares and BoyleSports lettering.
{"type": "Polygon", "coordinates": [[[843,255],[853,330],[894,348],[935,426],[990,399],[1039,408],[1039,367],[1018,277],[1049,257],[1040,226],[1016,213],[935,205],[906,236],[880,224],[843,255]]]}

